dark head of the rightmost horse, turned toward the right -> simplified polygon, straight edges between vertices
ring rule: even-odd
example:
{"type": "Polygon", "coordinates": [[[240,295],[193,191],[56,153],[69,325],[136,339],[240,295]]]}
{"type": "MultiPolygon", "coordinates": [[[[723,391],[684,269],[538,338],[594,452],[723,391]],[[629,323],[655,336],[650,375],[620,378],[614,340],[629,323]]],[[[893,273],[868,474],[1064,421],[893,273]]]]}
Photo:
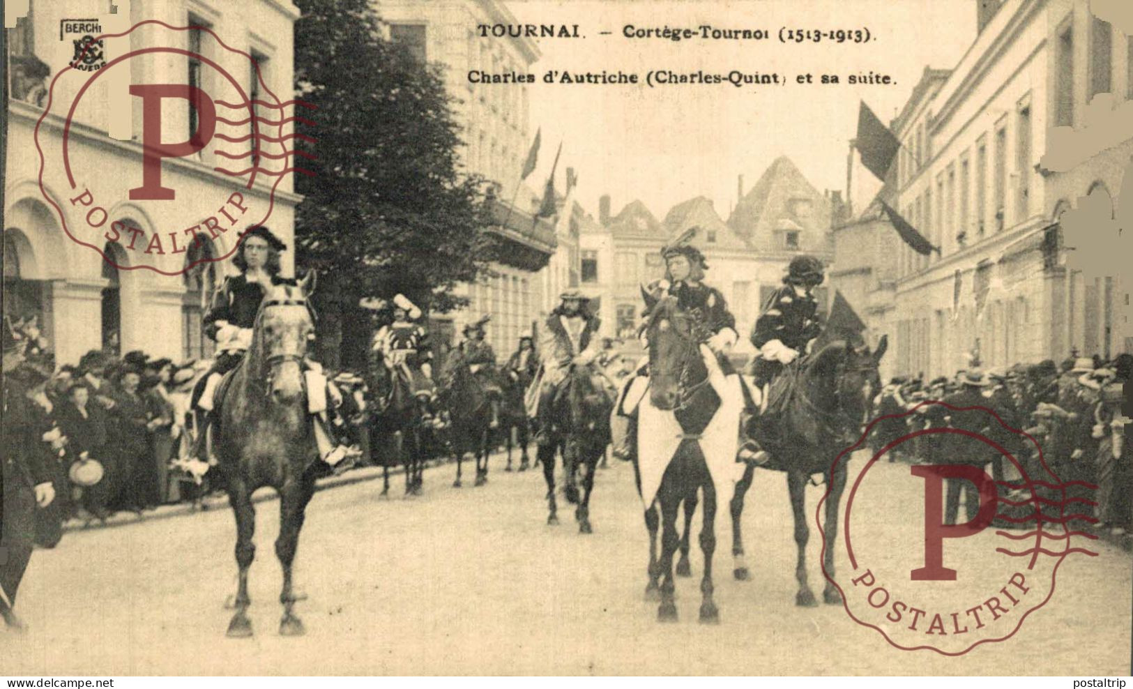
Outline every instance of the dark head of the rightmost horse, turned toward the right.
{"type": "Polygon", "coordinates": [[[847,425],[866,420],[874,395],[881,386],[878,366],[887,348],[888,337],[881,335],[876,350],[840,340],[816,355],[811,372],[833,388],[835,411],[847,425]]]}

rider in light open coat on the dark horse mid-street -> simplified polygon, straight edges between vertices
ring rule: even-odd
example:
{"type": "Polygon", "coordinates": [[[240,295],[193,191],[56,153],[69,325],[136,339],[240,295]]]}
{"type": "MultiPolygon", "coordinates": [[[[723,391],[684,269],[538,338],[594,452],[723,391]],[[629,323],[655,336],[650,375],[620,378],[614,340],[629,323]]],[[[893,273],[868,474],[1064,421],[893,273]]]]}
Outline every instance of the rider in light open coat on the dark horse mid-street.
{"type": "Polygon", "coordinates": [[[562,389],[571,365],[586,366],[600,352],[596,337],[600,321],[585,308],[588,299],[577,290],[564,291],[559,299],[559,306],[547,316],[539,342],[542,368],[531,383],[539,391],[535,409],[529,410],[539,422],[535,435],[539,445],[553,442],[555,394],[562,389]]]}

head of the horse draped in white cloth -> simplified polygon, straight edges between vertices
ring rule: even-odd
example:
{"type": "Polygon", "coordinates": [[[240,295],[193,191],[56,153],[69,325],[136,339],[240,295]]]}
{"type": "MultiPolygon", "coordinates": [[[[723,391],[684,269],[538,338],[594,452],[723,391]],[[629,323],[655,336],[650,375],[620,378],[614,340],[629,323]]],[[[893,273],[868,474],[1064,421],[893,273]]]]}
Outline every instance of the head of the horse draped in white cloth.
{"type": "Polygon", "coordinates": [[[674,409],[684,388],[707,375],[692,318],[676,306],[676,297],[654,297],[641,290],[649,309],[645,323],[649,342],[649,399],[657,409],[674,409]],[[700,371],[697,371],[697,369],[700,371]]]}

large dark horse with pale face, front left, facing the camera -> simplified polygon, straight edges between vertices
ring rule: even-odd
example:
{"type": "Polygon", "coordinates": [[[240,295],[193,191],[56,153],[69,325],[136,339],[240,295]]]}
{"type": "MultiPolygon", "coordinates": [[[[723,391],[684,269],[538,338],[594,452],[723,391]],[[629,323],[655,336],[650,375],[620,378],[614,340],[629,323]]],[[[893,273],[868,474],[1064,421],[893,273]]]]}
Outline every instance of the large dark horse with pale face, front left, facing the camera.
{"type": "Polygon", "coordinates": [[[300,636],[303,622],[293,606],[298,596],[291,565],[307,503],[315,493],[318,451],[304,391],[303,361],[314,320],[307,298],[314,271],[298,284],[270,287],[256,314],[252,346],[216,390],[218,423],[213,426],[216,469],[236,516],[236,561],[239,586],[229,637],[250,637],[247,616],[248,570],[255,558],[255,508],[252,494],[271,486],[280,496],[280,531],[275,554],[283,567],[280,635],[300,636]]]}

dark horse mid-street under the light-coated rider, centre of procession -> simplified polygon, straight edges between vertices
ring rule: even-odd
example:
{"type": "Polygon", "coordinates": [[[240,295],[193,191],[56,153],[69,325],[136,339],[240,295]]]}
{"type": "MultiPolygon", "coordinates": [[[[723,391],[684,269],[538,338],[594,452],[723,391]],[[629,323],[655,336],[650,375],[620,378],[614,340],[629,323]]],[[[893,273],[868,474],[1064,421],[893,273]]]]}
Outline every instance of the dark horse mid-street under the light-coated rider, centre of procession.
{"type": "Polygon", "coordinates": [[[605,385],[597,382],[597,373],[589,366],[571,365],[566,378],[554,398],[556,426],[551,432],[552,442],[539,445],[538,460],[543,478],[547,482],[547,525],[559,524],[555,502],[555,452],[563,457],[563,495],[566,502],[578,505],[574,520],[580,534],[594,533],[590,524],[590,493],[598,460],[610,444],[610,412],[613,397],[605,385]],[[577,475],[582,469],[582,493],[579,495],[577,475]]]}

